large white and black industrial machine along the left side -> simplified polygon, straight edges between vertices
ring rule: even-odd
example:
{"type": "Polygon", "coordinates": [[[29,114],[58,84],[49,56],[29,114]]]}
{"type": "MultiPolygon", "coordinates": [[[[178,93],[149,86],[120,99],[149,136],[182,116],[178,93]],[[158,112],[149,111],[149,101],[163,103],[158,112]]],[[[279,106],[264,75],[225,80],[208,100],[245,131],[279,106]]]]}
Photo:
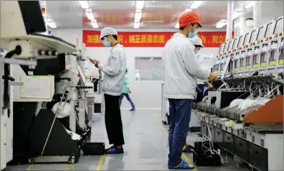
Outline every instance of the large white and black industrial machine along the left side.
{"type": "Polygon", "coordinates": [[[90,140],[85,46],[44,31],[38,1],[1,1],[1,170],[12,159],[74,163],[90,140]]]}

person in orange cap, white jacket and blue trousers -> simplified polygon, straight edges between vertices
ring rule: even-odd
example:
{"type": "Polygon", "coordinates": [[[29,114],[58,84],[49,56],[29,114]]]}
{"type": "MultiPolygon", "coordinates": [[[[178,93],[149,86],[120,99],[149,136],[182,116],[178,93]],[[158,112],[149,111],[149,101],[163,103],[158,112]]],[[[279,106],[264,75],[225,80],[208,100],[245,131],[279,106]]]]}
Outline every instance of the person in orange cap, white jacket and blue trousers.
{"type": "Polygon", "coordinates": [[[194,169],[194,166],[181,159],[181,153],[189,131],[192,100],[196,91],[195,78],[216,80],[215,74],[199,65],[192,43],[188,41],[188,37],[196,35],[199,27],[202,26],[196,12],[181,15],[178,33],[164,47],[164,95],[170,104],[169,169],[194,169]]]}

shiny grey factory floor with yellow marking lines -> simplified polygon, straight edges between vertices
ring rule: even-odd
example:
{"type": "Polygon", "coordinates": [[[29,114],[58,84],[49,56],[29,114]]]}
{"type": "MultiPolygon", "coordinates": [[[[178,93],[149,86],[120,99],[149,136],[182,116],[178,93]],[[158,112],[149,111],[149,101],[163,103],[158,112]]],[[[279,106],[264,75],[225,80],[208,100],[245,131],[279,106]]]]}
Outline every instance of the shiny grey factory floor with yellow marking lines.
{"type": "MultiPolygon", "coordinates": [[[[125,153],[122,155],[82,156],[77,164],[32,164],[8,166],[10,170],[168,170],[168,128],[161,123],[161,112],[151,110],[122,110],[125,153]]],[[[92,141],[106,142],[103,116],[94,116],[92,141]]],[[[188,135],[188,144],[201,140],[196,133],[188,135]]],[[[192,164],[192,153],[183,159],[192,164]]],[[[233,159],[224,157],[222,167],[196,167],[194,170],[248,170],[240,168],[233,159]]]]}

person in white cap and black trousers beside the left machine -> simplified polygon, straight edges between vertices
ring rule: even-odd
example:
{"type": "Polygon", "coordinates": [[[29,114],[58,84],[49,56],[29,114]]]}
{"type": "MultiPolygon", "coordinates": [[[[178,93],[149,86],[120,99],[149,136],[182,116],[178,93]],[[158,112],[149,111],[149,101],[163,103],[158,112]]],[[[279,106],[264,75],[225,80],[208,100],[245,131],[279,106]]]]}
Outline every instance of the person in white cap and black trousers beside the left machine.
{"type": "Polygon", "coordinates": [[[105,97],[105,127],[109,144],[114,146],[106,149],[107,154],[124,153],[122,121],[120,114],[119,98],[125,81],[125,52],[123,46],[118,43],[118,33],[115,29],[105,27],[101,31],[100,40],[105,47],[112,47],[109,58],[105,64],[97,60],[91,60],[101,72],[103,77],[103,93],[105,97]]]}

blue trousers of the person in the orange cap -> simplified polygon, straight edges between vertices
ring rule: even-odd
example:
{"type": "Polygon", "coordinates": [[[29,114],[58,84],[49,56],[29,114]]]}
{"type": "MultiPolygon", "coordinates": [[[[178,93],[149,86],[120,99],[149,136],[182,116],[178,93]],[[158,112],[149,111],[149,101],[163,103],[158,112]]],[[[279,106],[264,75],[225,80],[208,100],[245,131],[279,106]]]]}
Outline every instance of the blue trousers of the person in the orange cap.
{"type": "Polygon", "coordinates": [[[190,129],[192,99],[168,99],[170,103],[170,129],[168,131],[168,165],[178,166],[181,163],[183,146],[190,129]]]}

